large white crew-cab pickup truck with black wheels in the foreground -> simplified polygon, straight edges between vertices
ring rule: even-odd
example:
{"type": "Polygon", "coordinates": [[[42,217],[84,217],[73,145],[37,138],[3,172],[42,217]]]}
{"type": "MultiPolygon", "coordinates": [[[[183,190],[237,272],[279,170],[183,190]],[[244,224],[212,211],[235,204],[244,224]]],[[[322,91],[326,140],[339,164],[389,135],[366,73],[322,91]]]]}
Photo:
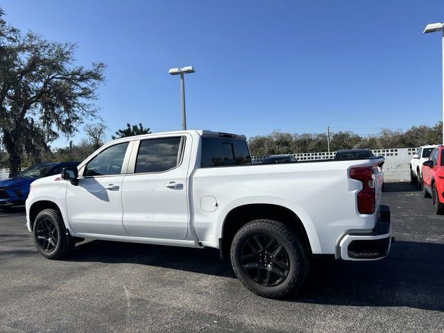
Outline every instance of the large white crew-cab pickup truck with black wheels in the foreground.
{"type": "Polygon", "coordinates": [[[117,139],[26,200],[37,250],[58,259],[81,239],[219,248],[266,297],[295,293],[313,255],[375,260],[391,246],[380,205],[384,160],[251,164],[246,138],[184,130],[117,139]]]}

